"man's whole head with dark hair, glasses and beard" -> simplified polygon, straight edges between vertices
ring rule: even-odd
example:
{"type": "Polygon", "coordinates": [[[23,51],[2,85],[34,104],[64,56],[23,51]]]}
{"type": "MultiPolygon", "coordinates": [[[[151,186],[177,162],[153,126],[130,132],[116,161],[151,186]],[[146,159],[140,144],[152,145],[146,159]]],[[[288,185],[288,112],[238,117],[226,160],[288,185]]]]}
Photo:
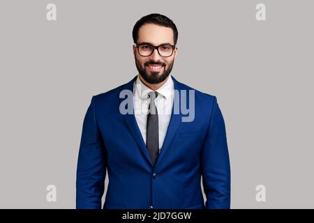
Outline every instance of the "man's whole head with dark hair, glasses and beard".
{"type": "Polygon", "coordinates": [[[133,54],[137,70],[146,82],[159,84],[170,75],[177,56],[177,39],[177,27],[165,15],[154,13],[136,22],[133,54]]]}

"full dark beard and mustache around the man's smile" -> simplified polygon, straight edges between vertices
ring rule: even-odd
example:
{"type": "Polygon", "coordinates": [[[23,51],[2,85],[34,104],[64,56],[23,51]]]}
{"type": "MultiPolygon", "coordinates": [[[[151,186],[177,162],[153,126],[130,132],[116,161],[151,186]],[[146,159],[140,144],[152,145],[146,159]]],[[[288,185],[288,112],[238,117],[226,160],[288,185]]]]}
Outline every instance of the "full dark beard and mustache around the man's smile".
{"type": "Polygon", "coordinates": [[[174,63],[174,60],[171,63],[169,63],[168,68],[165,69],[166,63],[147,61],[144,63],[144,68],[143,68],[142,65],[140,64],[140,61],[138,61],[137,58],[135,58],[135,64],[136,64],[136,68],[138,72],[140,73],[141,77],[143,77],[143,79],[149,84],[159,84],[160,82],[163,82],[165,79],[167,79],[167,77],[170,75],[170,72],[172,70],[173,63],[174,63]],[[163,66],[163,69],[165,70],[162,70],[160,72],[150,72],[149,74],[146,71],[146,67],[149,66],[149,64],[161,65],[163,66]],[[161,74],[159,75],[159,73],[161,74]]]}

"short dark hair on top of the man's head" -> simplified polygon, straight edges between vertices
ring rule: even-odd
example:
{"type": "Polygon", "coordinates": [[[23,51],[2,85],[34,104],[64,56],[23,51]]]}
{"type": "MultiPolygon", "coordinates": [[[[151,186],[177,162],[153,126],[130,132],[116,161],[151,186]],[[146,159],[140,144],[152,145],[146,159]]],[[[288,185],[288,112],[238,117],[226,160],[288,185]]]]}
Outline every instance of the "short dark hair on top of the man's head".
{"type": "Polygon", "coordinates": [[[165,15],[160,15],[158,13],[152,13],[149,15],[145,15],[144,17],[140,18],[140,20],[138,20],[135,23],[135,25],[133,27],[133,31],[132,31],[134,43],[137,43],[138,31],[139,31],[140,27],[144,24],[149,24],[149,23],[171,28],[173,31],[174,45],[177,44],[177,40],[178,40],[177,26],[174,24],[174,22],[172,22],[172,20],[170,20],[170,18],[168,18],[165,15]]]}

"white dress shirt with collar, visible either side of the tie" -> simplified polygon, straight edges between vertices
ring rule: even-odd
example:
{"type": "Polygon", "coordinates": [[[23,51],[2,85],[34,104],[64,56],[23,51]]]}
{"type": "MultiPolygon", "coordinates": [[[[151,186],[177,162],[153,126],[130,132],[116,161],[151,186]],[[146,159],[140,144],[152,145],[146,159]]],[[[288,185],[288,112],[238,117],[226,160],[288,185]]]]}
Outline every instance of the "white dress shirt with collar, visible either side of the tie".
{"type": "MultiPolygon", "coordinates": [[[[134,113],[137,121],[137,125],[140,128],[142,137],[146,144],[146,132],[147,132],[147,114],[149,107],[148,93],[153,90],[149,89],[137,75],[137,79],[134,82],[133,87],[133,102],[134,102],[134,113]]],[[[159,137],[159,152],[163,146],[167,128],[170,122],[173,99],[174,99],[174,85],[171,75],[169,75],[167,81],[163,86],[160,86],[156,90],[158,96],[155,99],[155,104],[158,111],[158,137],[159,137]]]]}

